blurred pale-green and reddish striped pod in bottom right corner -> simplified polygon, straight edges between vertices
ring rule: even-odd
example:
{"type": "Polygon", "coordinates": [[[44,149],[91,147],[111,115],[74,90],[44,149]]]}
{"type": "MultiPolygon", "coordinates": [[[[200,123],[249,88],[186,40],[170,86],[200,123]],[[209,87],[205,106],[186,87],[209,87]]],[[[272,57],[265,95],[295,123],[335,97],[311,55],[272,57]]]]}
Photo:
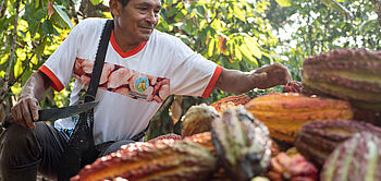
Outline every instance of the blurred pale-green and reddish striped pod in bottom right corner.
{"type": "Polygon", "coordinates": [[[381,138],[370,132],[342,143],[324,162],[321,181],[381,180],[381,138]]]}

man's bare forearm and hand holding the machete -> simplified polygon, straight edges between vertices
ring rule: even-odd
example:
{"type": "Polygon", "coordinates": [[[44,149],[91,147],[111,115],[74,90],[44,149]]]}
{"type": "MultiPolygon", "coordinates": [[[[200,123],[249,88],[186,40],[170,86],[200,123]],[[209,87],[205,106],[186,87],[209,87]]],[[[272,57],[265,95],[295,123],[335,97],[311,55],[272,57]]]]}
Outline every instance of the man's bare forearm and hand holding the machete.
{"type": "Polygon", "coordinates": [[[41,71],[37,71],[26,81],[17,104],[11,109],[13,122],[33,130],[34,122],[38,121],[39,101],[44,98],[46,90],[52,84],[50,79],[41,71]]]}

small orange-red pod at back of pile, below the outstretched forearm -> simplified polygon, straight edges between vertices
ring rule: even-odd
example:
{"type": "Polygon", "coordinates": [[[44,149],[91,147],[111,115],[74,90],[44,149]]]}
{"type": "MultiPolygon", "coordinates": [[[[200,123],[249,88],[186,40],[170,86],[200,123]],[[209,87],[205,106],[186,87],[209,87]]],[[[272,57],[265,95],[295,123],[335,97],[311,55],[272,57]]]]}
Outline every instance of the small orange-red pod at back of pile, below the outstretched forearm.
{"type": "Polygon", "coordinates": [[[222,98],[218,101],[210,104],[210,106],[214,107],[218,112],[223,112],[223,110],[226,109],[226,107],[246,105],[250,100],[251,98],[248,95],[243,94],[238,96],[229,96],[229,97],[222,98]]]}

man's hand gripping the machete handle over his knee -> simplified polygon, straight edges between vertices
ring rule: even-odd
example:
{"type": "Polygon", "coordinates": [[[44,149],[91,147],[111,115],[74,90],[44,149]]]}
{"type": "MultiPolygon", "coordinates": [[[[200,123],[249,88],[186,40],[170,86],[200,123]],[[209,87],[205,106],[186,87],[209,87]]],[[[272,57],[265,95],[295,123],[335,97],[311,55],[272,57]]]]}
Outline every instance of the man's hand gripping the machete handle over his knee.
{"type": "Polygon", "coordinates": [[[19,98],[19,102],[11,109],[13,122],[24,126],[25,129],[35,129],[38,121],[39,102],[35,97],[24,96],[19,98]]]}

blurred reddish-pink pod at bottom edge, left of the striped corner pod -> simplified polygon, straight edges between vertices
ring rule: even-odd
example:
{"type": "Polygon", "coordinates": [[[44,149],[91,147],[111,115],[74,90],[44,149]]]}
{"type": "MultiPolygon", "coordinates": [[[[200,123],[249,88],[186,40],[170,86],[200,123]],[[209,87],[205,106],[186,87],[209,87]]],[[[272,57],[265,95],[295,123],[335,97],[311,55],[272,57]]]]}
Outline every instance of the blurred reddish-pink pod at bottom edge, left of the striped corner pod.
{"type": "Polygon", "coordinates": [[[318,169],[300,155],[280,153],[271,158],[268,177],[271,181],[317,181],[318,169]]]}

